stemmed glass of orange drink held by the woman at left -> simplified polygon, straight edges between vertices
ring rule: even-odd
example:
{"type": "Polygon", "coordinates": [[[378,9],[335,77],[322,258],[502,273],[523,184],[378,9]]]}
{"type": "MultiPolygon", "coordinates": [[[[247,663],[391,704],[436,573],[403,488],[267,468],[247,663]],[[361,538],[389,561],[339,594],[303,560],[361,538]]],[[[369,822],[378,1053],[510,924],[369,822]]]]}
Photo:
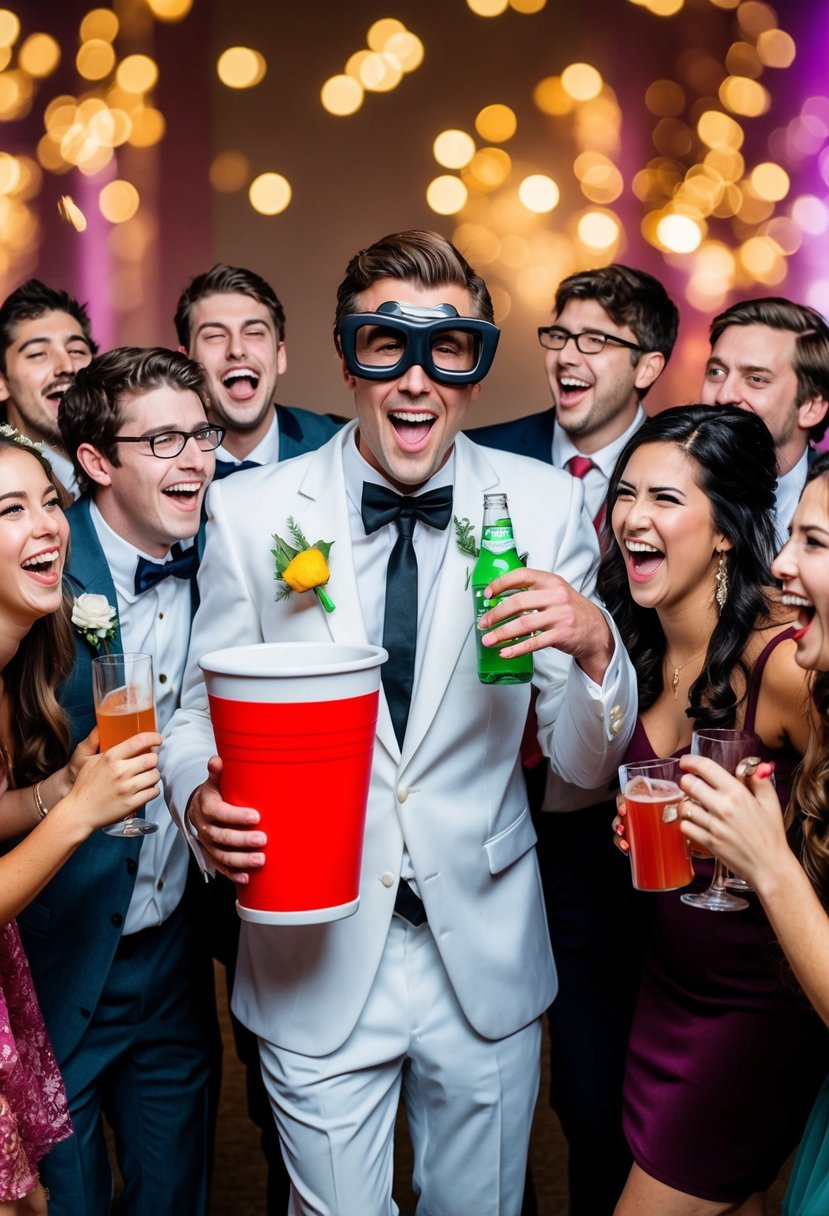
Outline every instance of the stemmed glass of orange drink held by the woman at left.
{"type": "MultiPolygon", "coordinates": [[[[92,659],[92,697],[101,736],[101,751],[156,730],[156,688],[150,654],[100,654],[92,659]]],[[[158,824],[131,815],[101,828],[107,835],[136,837],[156,832],[158,824]]]]}

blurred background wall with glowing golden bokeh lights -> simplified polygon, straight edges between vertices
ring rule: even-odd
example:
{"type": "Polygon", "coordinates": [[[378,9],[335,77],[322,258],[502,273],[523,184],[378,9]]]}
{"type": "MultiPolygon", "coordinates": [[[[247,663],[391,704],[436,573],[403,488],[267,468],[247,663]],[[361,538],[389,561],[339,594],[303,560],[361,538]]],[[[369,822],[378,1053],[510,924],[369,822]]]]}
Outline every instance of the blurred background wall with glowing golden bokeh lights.
{"type": "Polygon", "coordinates": [[[288,315],[281,399],[349,412],[345,263],[427,226],[503,327],[480,421],[548,404],[535,327],[613,260],[682,313],[649,407],[692,400],[722,306],[829,313],[828,61],[825,0],[11,0],[0,292],[38,275],[103,347],[174,344],[186,281],[249,266],[288,315]]]}

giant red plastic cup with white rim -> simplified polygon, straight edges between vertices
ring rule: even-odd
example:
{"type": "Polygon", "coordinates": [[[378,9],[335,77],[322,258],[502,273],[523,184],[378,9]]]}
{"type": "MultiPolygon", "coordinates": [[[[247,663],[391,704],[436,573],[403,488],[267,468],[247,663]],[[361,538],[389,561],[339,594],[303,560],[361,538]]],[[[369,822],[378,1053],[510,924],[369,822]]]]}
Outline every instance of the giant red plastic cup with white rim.
{"type": "Polygon", "coordinates": [[[265,865],[237,889],[259,924],[315,924],[360,905],[380,687],[379,646],[264,642],[205,654],[221,795],[255,806],[265,865]]]}

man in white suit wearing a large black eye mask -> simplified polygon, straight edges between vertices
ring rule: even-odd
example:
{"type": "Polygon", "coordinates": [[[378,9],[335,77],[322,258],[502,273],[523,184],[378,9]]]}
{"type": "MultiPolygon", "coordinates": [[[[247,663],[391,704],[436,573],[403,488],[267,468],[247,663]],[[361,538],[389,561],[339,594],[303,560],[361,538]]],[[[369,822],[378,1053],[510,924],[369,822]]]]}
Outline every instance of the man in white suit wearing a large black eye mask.
{"type": "Polygon", "coordinates": [[[633,728],[630,662],[586,598],[597,546],[581,484],[459,433],[495,350],[491,319],[486,285],[442,237],[404,232],[362,250],[334,327],[356,422],[317,452],[229,479],[208,503],[191,670],[162,751],[168,795],[205,868],[244,882],[266,838],[255,809],[221,799],[198,657],[276,640],[395,652],[416,631],[402,719],[400,685],[384,674],[359,911],[321,925],[242,927],[233,1008],[259,1036],[294,1212],[396,1211],[401,1088],[418,1210],[520,1211],[540,1017],[556,995],[519,762],[530,686],[478,680],[472,559],[445,527],[450,514],[475,520],[484,492],[509,496],[530,568],[492,587],[526,590],[483,625],[507,655],[535,652],[540,742],[553,766],[594,786],[633,728]],[[430,491],[446,507],[441,520],[423,518],[430,491]],[[366,510],[378,495],[396,502],[382,525],[366,510]],[[306,536],[334,541],[331,614],[312,595],[275,601],[272,534],[284,535],[289,516],[306,536]],[[408,619],[384,621],[405,516],[417,520],[417,595],[408,619]],[[508,618],[521,612],[536,627],[511,646],[526,625],[508,618]]]}

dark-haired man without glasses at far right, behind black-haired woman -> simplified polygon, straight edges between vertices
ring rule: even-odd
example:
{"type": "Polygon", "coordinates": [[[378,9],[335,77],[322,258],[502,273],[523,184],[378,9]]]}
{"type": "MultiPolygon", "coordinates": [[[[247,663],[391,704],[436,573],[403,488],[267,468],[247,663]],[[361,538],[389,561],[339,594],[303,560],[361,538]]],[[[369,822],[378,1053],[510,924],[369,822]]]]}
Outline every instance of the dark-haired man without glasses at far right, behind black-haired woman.
{"type": "Polygon", "coordinates": [[[782,545],[806,484],[811,443],[829,410],[829,326],[812,308],[779,295],[732,304],[711,322],[699,395],[762,418],[777,450],[777,534],[782,545]]]}

